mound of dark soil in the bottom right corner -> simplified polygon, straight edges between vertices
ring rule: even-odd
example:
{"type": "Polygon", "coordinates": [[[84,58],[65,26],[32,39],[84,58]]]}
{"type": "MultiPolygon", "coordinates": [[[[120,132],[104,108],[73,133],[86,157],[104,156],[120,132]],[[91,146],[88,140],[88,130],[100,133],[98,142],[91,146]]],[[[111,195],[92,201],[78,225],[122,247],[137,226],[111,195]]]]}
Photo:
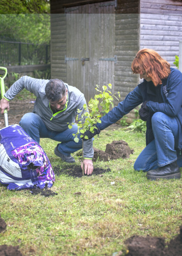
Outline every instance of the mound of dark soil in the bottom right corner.
{"type": "Polygon", "coordinates": [[[150,236],[132,236],[125,241],[125,244],[129,250],[128,256],[181,256],[182,226],[180,234],[167,244],[164,238],[150,236]]]}

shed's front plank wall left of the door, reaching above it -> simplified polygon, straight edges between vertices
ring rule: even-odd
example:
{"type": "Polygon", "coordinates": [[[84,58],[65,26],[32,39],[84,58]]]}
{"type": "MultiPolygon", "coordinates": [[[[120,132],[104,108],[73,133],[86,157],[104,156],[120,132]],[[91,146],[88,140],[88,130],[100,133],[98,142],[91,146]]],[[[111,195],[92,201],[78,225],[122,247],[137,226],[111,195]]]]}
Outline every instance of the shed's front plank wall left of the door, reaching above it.
{"type": "MultiPolygon", "coordinates": [[[[82,5],[104,1],[105,0],[50,0],[52,79],[58,78],[66,82],[66,9],[70,9],[70,13],[72,13],[72,11],[74,12],[74,6],[80,6],[77,13],[82,13],[84,9],[82,5]]],[[[93,8],[92,13],[98,13],[98,9],[93,8]]]]}

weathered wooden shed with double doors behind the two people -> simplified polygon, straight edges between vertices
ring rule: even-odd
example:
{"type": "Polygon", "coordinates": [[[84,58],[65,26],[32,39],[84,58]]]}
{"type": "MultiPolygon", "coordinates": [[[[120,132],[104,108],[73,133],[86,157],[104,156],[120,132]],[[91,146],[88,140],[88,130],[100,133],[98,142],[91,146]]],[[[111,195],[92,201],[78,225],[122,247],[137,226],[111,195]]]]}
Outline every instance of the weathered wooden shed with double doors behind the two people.
{"type": "MultiPolygon", "coordinates": [[[[51,78],[85,94],[112,84],[121,100],[139,83],[131,62],[141,48],[172,67],[182,40],[182,1],[51,0],[51,78]]],[[[115,102],[115,105],[117,102],[115,102]]],[[[134,118],[134,114],[128,114],[134,118]]]]}

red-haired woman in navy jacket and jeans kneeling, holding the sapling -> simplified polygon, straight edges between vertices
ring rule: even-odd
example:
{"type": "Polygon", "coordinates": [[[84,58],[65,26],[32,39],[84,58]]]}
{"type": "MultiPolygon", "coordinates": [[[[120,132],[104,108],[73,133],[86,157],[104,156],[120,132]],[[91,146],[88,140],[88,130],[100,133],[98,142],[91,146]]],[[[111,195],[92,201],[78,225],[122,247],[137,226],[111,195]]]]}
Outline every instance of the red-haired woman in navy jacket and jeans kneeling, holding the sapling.
{"type": "Polygon", "coordinates": [[[146,121],[146,147],[134,163],[135,170],[147,171],[147,178],[180,178],[182,167],[182,73],[152,49],[141,49],[131,68],[140,83],[125,99],[101,118],[90,139],[121,119],[139,104],[146,121]]]}

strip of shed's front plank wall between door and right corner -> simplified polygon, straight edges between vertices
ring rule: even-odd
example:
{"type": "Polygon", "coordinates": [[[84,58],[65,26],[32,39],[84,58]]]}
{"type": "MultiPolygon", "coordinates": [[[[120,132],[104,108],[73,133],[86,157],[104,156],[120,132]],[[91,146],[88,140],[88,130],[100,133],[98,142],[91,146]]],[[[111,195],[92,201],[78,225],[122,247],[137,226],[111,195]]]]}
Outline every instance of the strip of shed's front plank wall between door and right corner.
{"type": "MultiPolygon", "coordinates": [[[[139,83],[139,77],[133,74],[131,63],[139,50],[139,1],[118,0],[115,16],[115,92],[121,93],[121,100],[139,83]]],[[[132,121],[134,112],[127,117],[132,121]]]]}

